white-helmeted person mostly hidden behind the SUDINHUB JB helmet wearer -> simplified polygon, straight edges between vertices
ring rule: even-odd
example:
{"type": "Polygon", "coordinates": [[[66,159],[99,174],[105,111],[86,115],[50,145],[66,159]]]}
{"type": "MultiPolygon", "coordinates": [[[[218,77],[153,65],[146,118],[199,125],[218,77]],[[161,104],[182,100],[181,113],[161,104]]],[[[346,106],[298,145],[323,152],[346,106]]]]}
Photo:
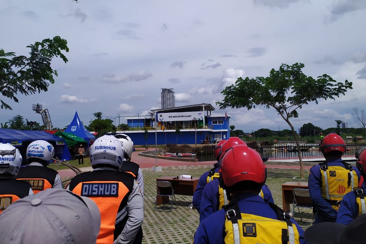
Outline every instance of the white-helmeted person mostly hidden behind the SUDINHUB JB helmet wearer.
{"type": "MultiPolygon", "coordinates": [[[[132,151],[134,149],[134,142],[131,140],[130,136],[126,134],[117,134],[115,135],[115,137],[122,142],[122,146],[124,149],[123,164],[122,167],[120,168],[120,171],[129,173],[135,178],[143,196],[144,194],[143,194],[142,170],[140,168],[140,165],[131,161],[132,151]]],[[[138,233],[136,234],[134,244],[141,244],[142,237],[143,237],[143,231],[141,226],[138,233]]]]}

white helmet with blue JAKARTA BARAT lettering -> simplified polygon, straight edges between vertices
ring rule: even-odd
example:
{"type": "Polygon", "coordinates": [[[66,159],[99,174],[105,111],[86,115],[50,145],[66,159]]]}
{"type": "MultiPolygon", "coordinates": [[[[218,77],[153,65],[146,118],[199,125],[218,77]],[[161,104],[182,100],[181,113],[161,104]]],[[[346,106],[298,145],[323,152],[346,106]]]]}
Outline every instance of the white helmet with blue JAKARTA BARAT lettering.
{"type": "Polygon", "coordinates": [[[27,147],[27,162],[39,162],[41,164],[51,164],[52,158],[55,155],[55,149],[51,143],[45,140],[35,140],[27,147]]]}

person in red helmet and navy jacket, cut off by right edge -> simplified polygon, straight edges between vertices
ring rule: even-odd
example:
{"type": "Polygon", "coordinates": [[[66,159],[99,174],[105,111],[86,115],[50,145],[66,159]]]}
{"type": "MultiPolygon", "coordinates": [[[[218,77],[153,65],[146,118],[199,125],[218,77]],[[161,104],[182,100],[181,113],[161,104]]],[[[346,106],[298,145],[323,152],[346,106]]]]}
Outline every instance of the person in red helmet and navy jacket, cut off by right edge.
{"type": "MultiPolygon", "coordinates": [[[[366,147],[361,147],[357,150],[356,160],[356,166],[360,170],[363,179],[365,179],[366,147]]],[[[355,187],[353,191],[344,195],[339,206],[336,222],[348,225],[361,214],[366,214],[365,197],[365,187],[355,187]]]]}

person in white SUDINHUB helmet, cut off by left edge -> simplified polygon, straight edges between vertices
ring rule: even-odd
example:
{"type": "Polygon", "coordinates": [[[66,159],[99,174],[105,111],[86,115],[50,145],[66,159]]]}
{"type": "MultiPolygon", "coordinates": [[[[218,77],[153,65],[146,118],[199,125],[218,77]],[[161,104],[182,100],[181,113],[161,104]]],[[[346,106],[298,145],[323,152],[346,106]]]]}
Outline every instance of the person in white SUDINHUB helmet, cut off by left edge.
{"type": "Polygon", "coordinates": [[[16,200],[33,194],[27,181],[15,180],[20,165],[20,151],[10,144],[0,143],[0,214],[16,200]]]}

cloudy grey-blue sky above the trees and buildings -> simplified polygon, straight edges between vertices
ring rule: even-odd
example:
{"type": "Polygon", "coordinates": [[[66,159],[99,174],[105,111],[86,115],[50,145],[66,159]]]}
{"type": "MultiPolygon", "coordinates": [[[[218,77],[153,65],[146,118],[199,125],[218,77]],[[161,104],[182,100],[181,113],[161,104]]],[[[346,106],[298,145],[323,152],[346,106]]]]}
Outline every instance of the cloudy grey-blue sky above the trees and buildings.
{"type": "MultiPolygon", "coordinates": [[[[295,62],[307,75],[354,84],[336,101],[304,106],[295,128],[335,127],[337,119],[357,127],[352,108],[365,109],[365,0],[3,0],[0,16],[5,52],[25,55],[27,45],[55,35],[70,48],[67,64],[53,61],[59,76],[48,92],[5,100],[13,110],[0,110],[3,123],[18,114],[41,122],[36,103],[61,128],[75,111],[84,124],[98,111],[137,116],[160,108],[163,87],[175,89],[177,106],[214,105],[239,76],[295,62]]],[[[226,111],[244,131],[289,128],[273,109],[226,111]]]]}

